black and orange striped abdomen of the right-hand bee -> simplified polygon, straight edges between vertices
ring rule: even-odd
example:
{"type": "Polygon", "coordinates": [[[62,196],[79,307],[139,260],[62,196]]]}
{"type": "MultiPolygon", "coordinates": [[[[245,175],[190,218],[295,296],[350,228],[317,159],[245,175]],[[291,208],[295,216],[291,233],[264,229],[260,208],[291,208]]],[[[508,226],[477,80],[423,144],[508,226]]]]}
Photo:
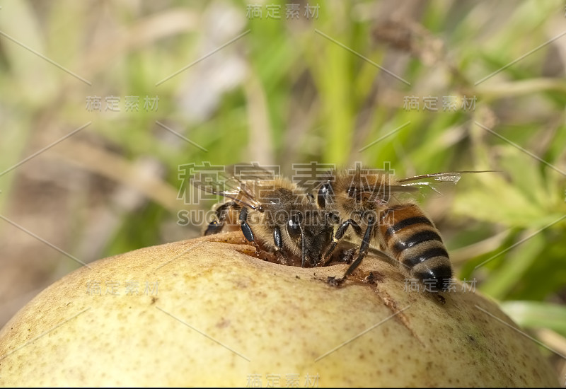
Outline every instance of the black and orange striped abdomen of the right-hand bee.
{"type": "Polygon", "coordinates": [[[416,204],[381,211],[378,228],[383,252],[431,289],[446,290],[452,277],[448,252],[434,223],[416,204]]]}

